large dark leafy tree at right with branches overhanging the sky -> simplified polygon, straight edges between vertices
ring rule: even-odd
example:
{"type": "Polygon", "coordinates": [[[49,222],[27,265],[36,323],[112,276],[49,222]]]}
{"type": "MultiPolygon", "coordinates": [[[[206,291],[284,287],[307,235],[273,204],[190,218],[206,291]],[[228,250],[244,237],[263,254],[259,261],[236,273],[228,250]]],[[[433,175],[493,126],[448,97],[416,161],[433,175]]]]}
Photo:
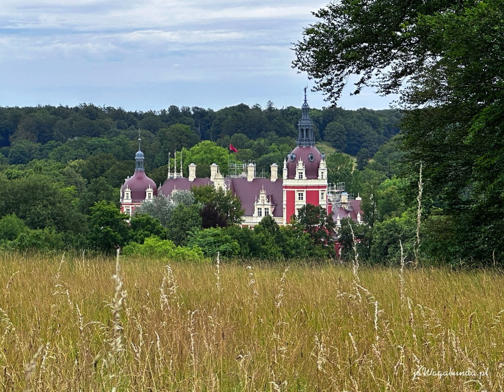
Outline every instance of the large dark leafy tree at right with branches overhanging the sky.
{"type": "Polygon", "coordinates": [[[422,162],[424,198],[457,227],[453,248],[483,262],[504,257],[503,9],[502,0],[343,0],[320,10],[295,47],[294,66],[333,101],[352,74],[356,93],[401,94],[410,178],[422,162]]]}

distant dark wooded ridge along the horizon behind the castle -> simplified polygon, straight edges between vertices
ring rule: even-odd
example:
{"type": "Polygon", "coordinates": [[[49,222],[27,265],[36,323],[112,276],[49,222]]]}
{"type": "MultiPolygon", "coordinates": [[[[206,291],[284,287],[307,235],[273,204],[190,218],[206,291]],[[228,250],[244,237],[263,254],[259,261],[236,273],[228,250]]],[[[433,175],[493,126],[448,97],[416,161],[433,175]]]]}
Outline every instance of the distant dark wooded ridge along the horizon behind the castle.
{"type": "MultiPolygon", "coordinates": [[[[217,111],[170,106],[160,111],[131,112],[93,104],[3,107],[0,108],[0,152],[9,164],[45,158],[68,162],[100,152],[123,159],[135,145],[128,141],[136,140],[138,130],[142,130],[146,157],[154,168],[167,162],[167,151],[190,148],[201,140],[211,140],[223,147],[234,141],[242,147],[241,142],[248,145],[247,141],[259,138],[295,138],[300,117],[299,108],[277,109],[272,102],[265,109],[239,104],[217,111]],[[186,127],[169,130],[175,124],[186,127]],[[82,141],[83,138],[97,139],[82,141]]],[[[350,155],[365,149],[372,156],[399,133],[400,114],[394,110],[323,108],[312,109],[310,117],[317,140],[328,141],[350,155]]],[[[256,159],[263,152],[256,148],[256,159]]]]}

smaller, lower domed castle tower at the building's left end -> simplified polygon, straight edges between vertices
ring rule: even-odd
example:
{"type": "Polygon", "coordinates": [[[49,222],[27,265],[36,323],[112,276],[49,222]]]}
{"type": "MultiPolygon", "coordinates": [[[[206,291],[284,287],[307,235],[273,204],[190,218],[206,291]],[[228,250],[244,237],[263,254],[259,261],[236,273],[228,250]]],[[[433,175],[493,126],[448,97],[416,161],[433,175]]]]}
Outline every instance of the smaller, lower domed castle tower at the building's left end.
{"type": "Polygon", "coordinates": [[[120,204],[121,212],[132,215],[137,206],[144,200],[152,200],[157,196],[156,183],[145,175],[144,153],[140,149],[141,139],[138,138],[138,151],[135,154],[135,173],[128,176],[121,186],[120,204]]]}

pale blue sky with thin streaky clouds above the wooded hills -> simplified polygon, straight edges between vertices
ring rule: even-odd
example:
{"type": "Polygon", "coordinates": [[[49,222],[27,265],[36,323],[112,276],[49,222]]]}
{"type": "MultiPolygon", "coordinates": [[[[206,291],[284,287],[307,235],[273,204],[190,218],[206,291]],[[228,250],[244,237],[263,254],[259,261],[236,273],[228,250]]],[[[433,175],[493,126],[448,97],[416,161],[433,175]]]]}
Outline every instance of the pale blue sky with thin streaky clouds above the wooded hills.
{"type": "MultiPolygon", "coordinates": [[[[292,69],[318,0],[2,0],[0,106],[330,106],[292,69]]],[[[349,89],[351,90],[351,89],[349,89]]],[[[338,106],[386,109],[365,90],[338,106]]]]}

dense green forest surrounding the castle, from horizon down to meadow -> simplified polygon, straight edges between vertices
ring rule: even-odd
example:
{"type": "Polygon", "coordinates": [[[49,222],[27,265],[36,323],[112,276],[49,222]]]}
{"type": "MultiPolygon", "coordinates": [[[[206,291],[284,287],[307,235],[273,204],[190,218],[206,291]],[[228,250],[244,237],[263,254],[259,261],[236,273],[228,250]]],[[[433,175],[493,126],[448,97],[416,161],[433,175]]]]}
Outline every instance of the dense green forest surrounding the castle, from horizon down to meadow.
{"type": "MultiPolygon", "coordinates": [[[[266,174],[272,163],[281,165],[295,146],[300,117],[299,108],[278,109],[271,101],[265,108],[240,104],[218,111],[170,106],[159,112],[131,112],[92,104],[0,108],[2,246],[110,251],[156,235],[161,240],[169,238],[175,246],[213,242],[211,250],[203,246],[209,254],[217,249],[242,257],[330,256],[326,250],[313,253],[302,220],[298,231],[282,228],[277,232],[265,222],[269,235],[261,236],[261,230],[238,230],[234,221],[215,218],[218,200],[225,198],[211,190],[196,198],[179,195],[179,200],[172,201],[179,208],[164,210],[164,219],[157,221],[138,216],[127,225],[118,214],[119,187],[134,171],[139,134],[147,174],[158,184],[167,176],[170,157],[174,167],[175,151],[179,154],[176,164],[180,166],[182,160],[185,175],[191,162],[198,165],[199,176],[208,176],[213,162],[226,174],[230,158],[255,161],[258,173],[266,174]],[[229,143],[238,149],[231,156],[229,143]],[[167,219],[171,214],[173,219],[167,219]],[[177,221],[185,226],[174,224],[177,221]],[[110,227],[113,235],[104,235],[103,227],[110,227]],[[286,245],[300,236],[305,237],[304,250],[286,245]],[[271,238],[276,238],[276,244],[271,238]],[[298,249],[298,254],[292,249],[298,249]]],[[[402,154],[396,136],[401,114],[332,107],[312,109],[310,117],[319,148],[327,154],[329,181],[345,182],[349,192],[364,198],[366,194],[369,198],[371,189],[384,192],[390,200],[384,202],[382,215],[401,214],[405,203],[396,192],[401,182],[393,178],[402,154]],[[387,179],[389,183],[381,185],[387,179]]],[[[233,202],[230,198],[229,203],[233,202]]]]}

